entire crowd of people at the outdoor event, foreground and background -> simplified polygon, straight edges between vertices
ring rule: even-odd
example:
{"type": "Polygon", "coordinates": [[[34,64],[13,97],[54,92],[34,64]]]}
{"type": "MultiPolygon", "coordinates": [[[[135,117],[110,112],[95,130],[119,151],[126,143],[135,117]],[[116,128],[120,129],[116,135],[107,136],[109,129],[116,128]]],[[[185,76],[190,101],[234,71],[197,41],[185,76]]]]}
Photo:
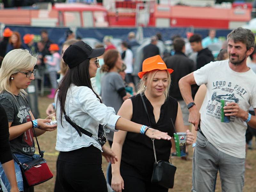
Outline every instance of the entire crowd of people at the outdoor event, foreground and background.
{"type": "Polygon", "coordinates": [[[167,192],[151,183],[152,139],[157,159],[168,161],[171,152],[175,155],[175,132],[185,132],[186,145],[194,150],[191,191],[214,191],[218,170],[222,191],[243,190],[245,143],[250,144],[256,128],[256,50],[250,30],[230,32],[216,57],[207,48],[218,42],[215,30],[205,39],[191,33],[187,41],[173,36],[173,50],[167,53],[163,42],[159,45],[161,34],[156,34],[143,47],[140,66],[135,66],[140,44],[133,32],[122,42],[121,52],[108,36],[105,45],[92,48],[74,39],[70,30],[58,44],[49,40],[46,30],[37,43],[32,34],[21,43],[20,34],[9,28],[3,35],[1,188],[34,191],[24,185],[12,154],[22,163],[39,158],[33,137],[57,128],[55,192],[107,191],[107,183],[118,192],[167,192]],[[187,54],[188,49],[196,57],[187,54]],[[134,76],[136,68],[140,70],[134,76]],[[46,119],[34,118],[25,92],[37,69],[49,74],[48,97],[54,98],[46,119]],[[230,123],[220,121],[222,99],[231,100],[223,109],[230,123]],[[57,125],[46,124],[52,116],[57,125]],[[110,148],[104,145],[106,138],[110,148]],[[101,155],[111,164],[107,181],[101,155]]]}

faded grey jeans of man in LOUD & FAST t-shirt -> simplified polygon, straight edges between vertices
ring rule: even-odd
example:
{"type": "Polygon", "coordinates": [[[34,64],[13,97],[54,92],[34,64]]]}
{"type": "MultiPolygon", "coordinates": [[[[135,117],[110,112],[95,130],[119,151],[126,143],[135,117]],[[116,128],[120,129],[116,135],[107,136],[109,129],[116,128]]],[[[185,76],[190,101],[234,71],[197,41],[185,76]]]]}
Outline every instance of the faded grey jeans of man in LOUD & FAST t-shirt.
{"type": "MultiPolygon", "coordinates": [[[[245,149],[244,149],[245,150],[245,149]]],[[[242,192],[245,159],[225,154],[197,132],[193,155],[192,192],[213,192],[218,169],[222,192],[242,192]]]]}

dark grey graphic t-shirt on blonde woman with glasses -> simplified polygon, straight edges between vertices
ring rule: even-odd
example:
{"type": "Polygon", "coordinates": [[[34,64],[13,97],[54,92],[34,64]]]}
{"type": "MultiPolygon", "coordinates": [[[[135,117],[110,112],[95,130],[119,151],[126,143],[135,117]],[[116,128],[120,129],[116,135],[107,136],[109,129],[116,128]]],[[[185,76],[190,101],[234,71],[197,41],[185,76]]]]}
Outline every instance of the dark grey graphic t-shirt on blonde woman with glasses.
{"type": "MultiPolygon", "coordinates": [[[[8,92],[0,94],[0,103],[3,105],[8,122],[11,126],[20,125],[31,121],[29,116],[28,100],[19,96],[13,97],[8,92]]],[[[33,155],[35,153],[35,143],[32,128],[22,133],[19,137],[10,141],[12,152],[33,155]]]]}

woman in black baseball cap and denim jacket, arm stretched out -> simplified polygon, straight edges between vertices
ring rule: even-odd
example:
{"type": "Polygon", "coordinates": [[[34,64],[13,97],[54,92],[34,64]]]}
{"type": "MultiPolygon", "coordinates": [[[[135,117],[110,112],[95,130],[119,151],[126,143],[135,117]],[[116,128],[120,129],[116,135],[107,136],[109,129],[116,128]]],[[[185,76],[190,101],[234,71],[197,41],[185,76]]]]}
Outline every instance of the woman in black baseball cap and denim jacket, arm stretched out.
{"type": "Polygon", "coordinates": [[[69,69],[60,83],[55,103],[56,149],[60,151],[58,175],[64,191],[107,192],[101,152],[108,162],[115,163],[118,159],[110,148],[102,146],[104,137],[98,134],[102,127],[105,132],[120,129],[140,132],[149,138],[171,138],[167,133],[116,116],[113,108],[102,104],[92,89],[90,78],[96,75],[100,67],[97,57],[104,51],[104,48],[92,49],[78,41],[63,54],[69,69]]]}

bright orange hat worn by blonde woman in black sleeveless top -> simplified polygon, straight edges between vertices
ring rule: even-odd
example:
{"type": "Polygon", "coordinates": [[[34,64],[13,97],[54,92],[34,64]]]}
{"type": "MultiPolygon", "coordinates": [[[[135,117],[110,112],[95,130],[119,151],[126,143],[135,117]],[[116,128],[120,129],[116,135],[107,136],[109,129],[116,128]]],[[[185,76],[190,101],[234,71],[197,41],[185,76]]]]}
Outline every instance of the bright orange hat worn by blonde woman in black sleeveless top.
{"type": "Polygon", "coordinates": [[[172,69],[167,69],[164,61],[160,57],[160,55],[156,55],[154,57],[149,57],[148,59],[145,59],[142,63],[142,71],[138,73],[138,76],[140,78],[143,77],[143,75],[149,71],[152,70],[167,70],[170,74],[173,72],[172,69]]]}

